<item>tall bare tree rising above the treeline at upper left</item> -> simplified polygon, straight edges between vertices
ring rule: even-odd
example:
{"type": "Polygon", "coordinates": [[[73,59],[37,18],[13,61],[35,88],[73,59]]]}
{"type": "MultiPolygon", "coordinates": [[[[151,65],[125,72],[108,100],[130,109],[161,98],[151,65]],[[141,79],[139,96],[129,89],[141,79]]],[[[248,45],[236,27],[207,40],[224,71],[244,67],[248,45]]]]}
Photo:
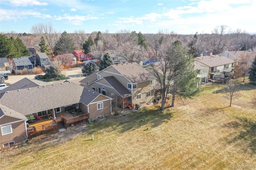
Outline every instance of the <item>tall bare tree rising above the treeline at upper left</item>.
{"type": "Polygon", "coordinates": [[[56,30],[54,30],[51,22],[46,24],[38,23],[32,26],[31,32],[40,38],[44,36],[44,39],[48,43],[50,50],[53,49],[54,43],[56,43],[58,40],[58,33],[56,30]]]}

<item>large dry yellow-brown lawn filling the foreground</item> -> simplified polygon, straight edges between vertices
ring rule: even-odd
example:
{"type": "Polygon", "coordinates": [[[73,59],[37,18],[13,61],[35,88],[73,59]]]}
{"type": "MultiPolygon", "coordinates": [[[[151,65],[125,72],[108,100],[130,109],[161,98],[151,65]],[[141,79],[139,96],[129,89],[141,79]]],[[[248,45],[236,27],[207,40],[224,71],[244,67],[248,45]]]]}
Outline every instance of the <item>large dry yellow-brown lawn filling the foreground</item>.
{"type": "Polygon", "coordinates": [[[177,99],[172,111],[152,106],[32,138],[27,146],[1,152],[0,169],[256,168],[256,108],[250,102],[256,87],[241,85],[232,107],[221,85],[203,88],[192,100],[177,99]]]}

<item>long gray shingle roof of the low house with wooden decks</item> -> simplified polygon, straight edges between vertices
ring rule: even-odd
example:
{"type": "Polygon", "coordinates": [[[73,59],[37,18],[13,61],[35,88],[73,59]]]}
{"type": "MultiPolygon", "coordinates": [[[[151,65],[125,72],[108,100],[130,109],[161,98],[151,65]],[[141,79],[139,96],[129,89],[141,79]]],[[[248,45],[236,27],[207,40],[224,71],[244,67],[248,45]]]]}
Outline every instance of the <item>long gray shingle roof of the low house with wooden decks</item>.
{"type": "Polygon", "coordinates": [[[23,115],[74,103],[89,105],[99,93],[71,82],[1,93],[0,103],[23,115]],[[11,99],[11,102],[10,102],[11,99]]]}

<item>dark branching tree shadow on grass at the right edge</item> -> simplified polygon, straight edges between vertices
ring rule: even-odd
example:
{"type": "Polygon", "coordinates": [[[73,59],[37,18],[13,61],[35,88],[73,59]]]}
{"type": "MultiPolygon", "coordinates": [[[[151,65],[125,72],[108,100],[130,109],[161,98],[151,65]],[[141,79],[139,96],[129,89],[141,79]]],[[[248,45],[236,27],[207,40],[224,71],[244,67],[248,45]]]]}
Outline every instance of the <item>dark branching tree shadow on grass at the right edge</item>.
{"type": "MultiPolygon", "coordinates": [[[[232,138],[226,138],[229,143],[235,143],[241,141],[244,146],[244,152],[249,152],[254,155],[256,151],[256,122],[248,120],[245,117],[237,118],[238,121],[232,121],[224,124],[224,127],[235,128],[238,130],[237,133],[232,133],[232,138]]],[[[241,143],[238,142],[238,147],[241,147],[241,143]]]]}

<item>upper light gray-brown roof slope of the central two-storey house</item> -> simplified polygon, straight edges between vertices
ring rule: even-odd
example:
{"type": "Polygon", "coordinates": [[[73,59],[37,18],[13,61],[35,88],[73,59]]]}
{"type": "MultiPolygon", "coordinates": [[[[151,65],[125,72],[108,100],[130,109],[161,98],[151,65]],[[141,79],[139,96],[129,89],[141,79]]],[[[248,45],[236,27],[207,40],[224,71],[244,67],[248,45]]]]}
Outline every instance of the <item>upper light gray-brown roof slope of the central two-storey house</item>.
{"type": "Polygon", "coordinates": [[[138,65],[137,63],[116,64],[111,66],[118,70],[132,83],[155,79],[150,72],[146,71],[142,66],[138,65]]]}

